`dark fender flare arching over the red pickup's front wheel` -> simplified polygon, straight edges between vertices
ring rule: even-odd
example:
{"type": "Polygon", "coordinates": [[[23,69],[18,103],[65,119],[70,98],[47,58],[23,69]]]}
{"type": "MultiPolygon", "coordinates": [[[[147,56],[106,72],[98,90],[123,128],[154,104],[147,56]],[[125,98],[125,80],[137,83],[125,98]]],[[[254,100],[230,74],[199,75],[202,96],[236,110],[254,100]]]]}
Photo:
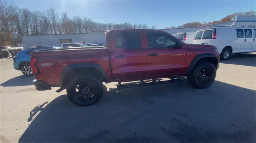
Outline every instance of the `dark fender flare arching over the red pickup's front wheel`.
{"type": "Polygon", "coordinates": [[[186,74],[190,74],[193,70],[193,68],[195,67],[196,63],[202,59],[202,58],[216,58],[216,60],[219,62],[218,60],[218,56],[214,53],[204,53],[204,54],[199,54],[196,55],[196,57],[194,57],[194,59],[192,60],[192,62],[190,63],[190,66],[188,68],[188,71],[186,72],[186,74]]]}

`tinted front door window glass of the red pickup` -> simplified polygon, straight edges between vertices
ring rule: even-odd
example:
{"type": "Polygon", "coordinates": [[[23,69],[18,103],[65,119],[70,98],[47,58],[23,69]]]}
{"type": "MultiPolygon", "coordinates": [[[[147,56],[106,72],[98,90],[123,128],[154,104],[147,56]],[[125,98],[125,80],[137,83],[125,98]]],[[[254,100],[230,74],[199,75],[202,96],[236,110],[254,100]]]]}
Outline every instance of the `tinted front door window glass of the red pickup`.
{"type": "Polygon", "coordinates": [[[174,47],[176,40],[160,32],[147,32],[149,48],[174,47]]]}

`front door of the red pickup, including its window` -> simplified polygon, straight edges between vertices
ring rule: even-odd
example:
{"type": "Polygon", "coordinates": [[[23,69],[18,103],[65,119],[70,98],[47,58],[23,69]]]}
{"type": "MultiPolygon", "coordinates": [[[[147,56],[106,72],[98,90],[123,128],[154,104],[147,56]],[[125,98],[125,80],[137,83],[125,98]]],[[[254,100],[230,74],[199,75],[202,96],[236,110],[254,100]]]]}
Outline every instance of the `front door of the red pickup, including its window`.
{"type": "Polygon", "coordinates": [[[146,37],[148,75],[175,75],[184,71],[186,50],[176,47],[178,41],[174,37],[155,31],[146,32],[146,37]]]}

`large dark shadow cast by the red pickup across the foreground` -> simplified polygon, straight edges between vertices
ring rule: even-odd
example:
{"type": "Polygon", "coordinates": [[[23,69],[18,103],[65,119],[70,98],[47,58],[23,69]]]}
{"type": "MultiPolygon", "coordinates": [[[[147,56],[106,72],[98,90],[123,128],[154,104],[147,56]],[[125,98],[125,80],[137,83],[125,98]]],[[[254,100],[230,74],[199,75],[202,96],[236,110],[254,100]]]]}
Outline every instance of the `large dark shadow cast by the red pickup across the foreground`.
{"type": "Polygon", "coordinates": [[[255,90],[220,81],[110,88],[87,107],[61,95],[34,108],[19,142],[255,142],[255,100],[255,90]]]}

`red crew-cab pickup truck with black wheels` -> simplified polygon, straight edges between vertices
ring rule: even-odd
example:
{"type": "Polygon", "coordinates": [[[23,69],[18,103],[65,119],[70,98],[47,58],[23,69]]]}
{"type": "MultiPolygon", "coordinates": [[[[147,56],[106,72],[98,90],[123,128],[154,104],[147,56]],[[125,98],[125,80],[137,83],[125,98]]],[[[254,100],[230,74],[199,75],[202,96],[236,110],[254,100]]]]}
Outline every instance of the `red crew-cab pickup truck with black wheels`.
{"type": "Polygon", "coordinates": [[[102,82],[187,76],[196,88],[214,82],[220,55],[211,45],[189,45],[160,30],[123,29],[106,33],[106,46],[34,51],[30,64],[37,90],[66,89],[76,105],[100,100],[102,82]]]}

